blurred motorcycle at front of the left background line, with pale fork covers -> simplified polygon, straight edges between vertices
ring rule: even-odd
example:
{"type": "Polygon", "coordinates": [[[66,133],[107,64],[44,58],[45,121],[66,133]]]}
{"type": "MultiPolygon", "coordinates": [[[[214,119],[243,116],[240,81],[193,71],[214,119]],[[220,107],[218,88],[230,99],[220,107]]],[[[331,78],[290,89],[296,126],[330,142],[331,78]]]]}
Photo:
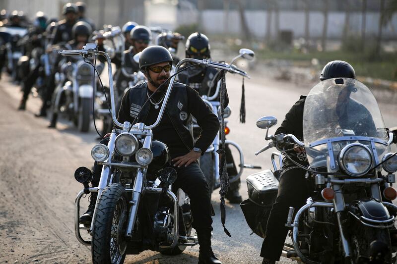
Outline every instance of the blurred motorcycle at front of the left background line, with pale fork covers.
{"type": "MultiPolygon", "coordinates": [[[[66,44],[65,47],[68,45],[66,44]]],[[[70,49],[70,46],[69,46],[70,49]]],[[[88,132],[91,124],[93,105],[92,78],[94,71],[91,66],[80,57],[62,59],[59,63],[60,71],[56,73],[56,89],[53,94],[51,109],[53,120],[65,115],[72,120],[81,132],[88,132]]],[[[97,63],[98,72],[103,70],[103,64],[97,63]]]]}

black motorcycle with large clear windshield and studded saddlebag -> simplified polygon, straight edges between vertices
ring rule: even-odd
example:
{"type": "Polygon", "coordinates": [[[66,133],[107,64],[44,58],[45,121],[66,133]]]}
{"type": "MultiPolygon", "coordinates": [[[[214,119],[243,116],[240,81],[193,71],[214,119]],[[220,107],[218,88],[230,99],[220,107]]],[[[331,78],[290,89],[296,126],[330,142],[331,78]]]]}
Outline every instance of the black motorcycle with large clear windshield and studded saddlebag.
{"type": "Polygon", "coordinates": [[[255,154],[273,147],[279,152],[271,155],[274,171],[247,177],[249,199],[241,208],[252,230],[265,236],[282,157],[293,162],[293,149],[304,148],[309,166],[293,163],[307,171],[312,196],[295,215],[290,207],[285,226],[292,243],[284,244],[282,255],[308,264],[394,263],[397,153],[391,153],[394,136],[370,90],[349,78],[314,86],[304,106],[304,142],[292,134],[268,135],[276,123],[273,116],[257,121],[270,143],[255,154]]]}

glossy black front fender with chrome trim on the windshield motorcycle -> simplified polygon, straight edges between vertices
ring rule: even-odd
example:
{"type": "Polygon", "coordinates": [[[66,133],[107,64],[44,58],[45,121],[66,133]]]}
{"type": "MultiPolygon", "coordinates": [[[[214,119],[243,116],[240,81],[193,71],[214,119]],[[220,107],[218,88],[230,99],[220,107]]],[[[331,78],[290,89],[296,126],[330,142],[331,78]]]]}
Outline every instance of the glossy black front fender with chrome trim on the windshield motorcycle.
{"type": "Polygon", "coordinates": [[[367,226],[385,228],[394,225],[394,216],[391,216],[377,199],[356,200],[350,204],[347,211],[367,226]]]}

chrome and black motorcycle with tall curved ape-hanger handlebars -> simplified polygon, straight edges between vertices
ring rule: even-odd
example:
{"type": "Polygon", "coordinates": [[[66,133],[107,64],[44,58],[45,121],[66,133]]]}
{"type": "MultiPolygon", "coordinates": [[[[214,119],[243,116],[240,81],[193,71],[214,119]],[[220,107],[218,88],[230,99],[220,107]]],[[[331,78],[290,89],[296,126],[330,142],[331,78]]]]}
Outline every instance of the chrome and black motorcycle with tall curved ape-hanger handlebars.
{"type": "MultiPolygon", "coordinates": [[[[75,179],[84,185],[75,200],[75,234],[84,245],[91,245],[95,263],[124,262],[126,254],[144,250],[163,254],[181,254],[187,246],[197,245],[192,236],[192,213],[189,197],[175,190],[177,173],[171,167],[168,148],[152,139],[152,128],[163,116],[175,76],[170,80],[157,120],[152,125],[116,119],[115,94],[110,57],[97,50],[96,44],[87,44],[82,50],[62,51],[64,56],[105,56],[110,84],[111,116],[117,127],[107,146],[95,145],[91,156],[102,164],[98,187],[90,187],[92,172],[85,167],[75,171],[75,179]],[[117,135],[116,135],[117,133],[117,135]],[[80,199],[84,194],[97,192],[91,225],[79,222],[80,199]],[[92,239],[84,239],[80,230],[86,230],[92,239]]],[[[208,67],[230,70],[229,65],[210,60],[184,59],[208,67]]],[[[180,67],[178,64],[176,69],[180,67]]]]}

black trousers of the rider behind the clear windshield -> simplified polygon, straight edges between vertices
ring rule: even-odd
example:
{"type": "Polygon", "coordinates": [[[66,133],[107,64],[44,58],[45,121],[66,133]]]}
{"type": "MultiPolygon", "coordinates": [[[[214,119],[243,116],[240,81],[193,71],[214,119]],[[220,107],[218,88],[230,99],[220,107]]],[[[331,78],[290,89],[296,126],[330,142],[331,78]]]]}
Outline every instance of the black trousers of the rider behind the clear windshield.
{"type": "Polygon", "coordinates": [[[280,260],[288,229],[285,227],[289,207],[299,210],[310,196],[306,171],[292,166],[283,167],[278,185],[276,202],[273,204],[266,225],[265,239],[261,257],[268,260],[280,260]]]}

